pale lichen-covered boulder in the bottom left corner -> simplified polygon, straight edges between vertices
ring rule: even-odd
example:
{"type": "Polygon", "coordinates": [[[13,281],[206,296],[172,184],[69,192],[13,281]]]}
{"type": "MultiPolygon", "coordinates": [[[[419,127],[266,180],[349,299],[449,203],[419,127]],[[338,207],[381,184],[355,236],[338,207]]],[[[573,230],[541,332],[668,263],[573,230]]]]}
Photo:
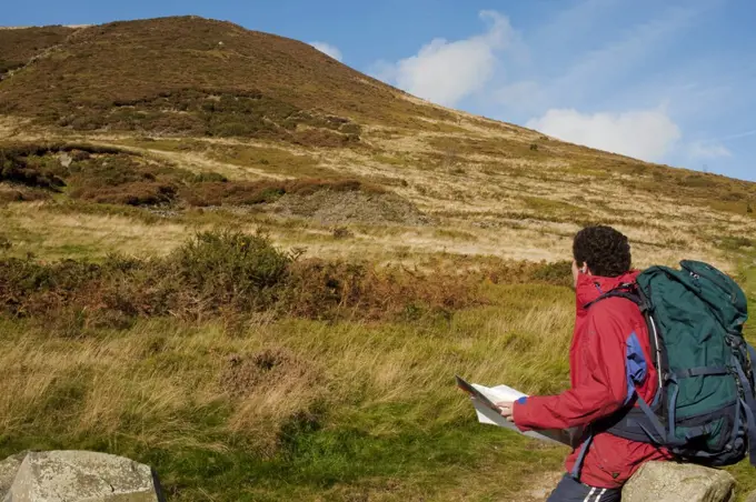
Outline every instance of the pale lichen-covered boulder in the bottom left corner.
{"type": "Polygon", "coordinates": [[[122,456],[29,452],[0,462],[2,502],[163,502],[157,475],[122,456]]]}

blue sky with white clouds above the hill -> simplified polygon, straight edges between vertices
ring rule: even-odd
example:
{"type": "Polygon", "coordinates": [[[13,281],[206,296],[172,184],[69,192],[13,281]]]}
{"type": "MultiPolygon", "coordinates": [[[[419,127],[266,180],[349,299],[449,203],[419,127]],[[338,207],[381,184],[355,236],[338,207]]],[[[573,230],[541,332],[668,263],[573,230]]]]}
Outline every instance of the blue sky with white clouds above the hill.
{"type": "Polygon", "coordinates": [[[445,106],[756,180],[753,0],[8,3],[2,26],[189,13],[229,20],[315,43],[445,106]]]}

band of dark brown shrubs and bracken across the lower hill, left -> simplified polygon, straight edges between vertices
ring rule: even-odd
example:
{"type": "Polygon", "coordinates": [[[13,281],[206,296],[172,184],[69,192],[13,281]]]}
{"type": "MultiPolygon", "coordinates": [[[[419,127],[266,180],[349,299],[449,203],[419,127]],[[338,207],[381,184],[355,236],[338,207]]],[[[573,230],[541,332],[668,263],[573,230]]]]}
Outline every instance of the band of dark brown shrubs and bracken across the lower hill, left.
{"type": "Polygon", "coordinates": [[[34,194],[44,194],[46,189],[62,192],[64,188],[71,199],[101,204],[180,202],[200,208],[271,203],[286,194],[308,197],[319,191],[386,193],[379,185],[354,179],[229,181],[215,172],[192,173],[131,151],[76,143],[0,145],[0,182],[28,188],[3,190],[0,200],[6,202],[37,200],[34,194]]]}

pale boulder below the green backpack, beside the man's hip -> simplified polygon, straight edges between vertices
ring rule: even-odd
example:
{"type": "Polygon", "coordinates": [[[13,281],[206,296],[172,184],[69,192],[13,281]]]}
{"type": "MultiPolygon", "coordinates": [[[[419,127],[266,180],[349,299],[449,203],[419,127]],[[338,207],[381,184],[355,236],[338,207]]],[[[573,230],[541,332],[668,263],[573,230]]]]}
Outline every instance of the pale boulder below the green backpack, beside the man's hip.
{"type": "Polygon", "coordinates": [[[648,462],[623,489],[623,502],[732,502],[735,479],[725,471],[675,462],[648,462]]]}

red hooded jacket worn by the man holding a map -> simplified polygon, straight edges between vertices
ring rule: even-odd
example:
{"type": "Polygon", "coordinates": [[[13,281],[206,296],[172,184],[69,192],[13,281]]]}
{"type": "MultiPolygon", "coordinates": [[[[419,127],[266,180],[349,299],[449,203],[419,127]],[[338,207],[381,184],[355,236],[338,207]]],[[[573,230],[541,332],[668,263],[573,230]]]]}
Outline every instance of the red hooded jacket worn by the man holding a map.
{"type": "MultiPolygon", "coordinates": [[[[638,308],[620,298],[603,300],[589,310],[584,308],[601,293],[631,282],[636,275],[637,272],[619,278],[579,277],[577,318],[569,350],[571,389],[559,395],[530,396],[515,403],[515,424],[520,430],[588,425],[623,408],[633,386],[646,402],[654,399],[657,374],[651,364],[648,330],[638,308]],[[647,371],[640,384],[630,383],[628,389],[626,358],[633,333],[645,355],[647,371]]],[[[579,451],[578,446],[567,456],[568,472],[579,451]]],[[[580,481],[591,486],[619,488],[644,462],[668,459],[666,451],[650,444],[597,433],[585,456],[580,481]]]]}

